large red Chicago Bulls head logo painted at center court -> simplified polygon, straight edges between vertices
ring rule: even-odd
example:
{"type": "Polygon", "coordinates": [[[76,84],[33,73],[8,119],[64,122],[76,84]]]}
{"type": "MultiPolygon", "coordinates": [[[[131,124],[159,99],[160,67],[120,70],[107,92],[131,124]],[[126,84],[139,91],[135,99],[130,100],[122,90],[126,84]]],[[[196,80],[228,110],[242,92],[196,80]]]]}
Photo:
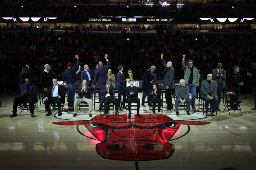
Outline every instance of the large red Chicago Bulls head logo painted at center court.
{"type": "MultiPolygon", "coordinates": [[[[146,161],[169,158],[174,153],[174,134],[181,125],[205,125],[210,122],[173,120],[167,115],[143,115],[142,118],[127,118],[127,115],[97,115],[91,120],[54,122],[57,125],[85,126],[92,137],[100,143],[96,144],[96,152],[105,159],[146,161]]],[[[182,136],[184,136],[182,135],[182,136]]],[[[182,136],[178,137],[181,138],[182,136]]],[[[178,139],[176,138],[176,139],[178,139]]]]}

